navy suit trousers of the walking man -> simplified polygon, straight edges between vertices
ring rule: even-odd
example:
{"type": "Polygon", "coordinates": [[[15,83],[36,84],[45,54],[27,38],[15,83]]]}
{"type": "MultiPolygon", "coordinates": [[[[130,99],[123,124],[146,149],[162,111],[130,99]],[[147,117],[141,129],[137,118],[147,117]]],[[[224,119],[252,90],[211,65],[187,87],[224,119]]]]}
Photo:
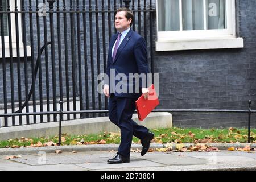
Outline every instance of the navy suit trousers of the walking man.
{"type": "Polygon", "coordinates": [[[109,98],[109,119],[120,128],[121,143],[118,154],[129,157],[133,135],[139,139],[146,137],[148,129],[138,125],[133,119],[135,111],[135,101],[137,98],[117,97],[110,94],[109,98]]]}

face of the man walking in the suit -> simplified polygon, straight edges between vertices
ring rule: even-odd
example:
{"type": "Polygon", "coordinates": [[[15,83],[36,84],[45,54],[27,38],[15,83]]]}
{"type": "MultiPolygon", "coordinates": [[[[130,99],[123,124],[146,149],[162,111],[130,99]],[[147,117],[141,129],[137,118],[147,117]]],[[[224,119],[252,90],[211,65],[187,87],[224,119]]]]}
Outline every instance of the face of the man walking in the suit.
{"type": "Polygon", "coordinates": [[[127,19],[125,14],[126,11],[119,11],[115,15],[115,28],[117,28],[119,32],[125,31],[130,27],[131,19],[127,19]]]}

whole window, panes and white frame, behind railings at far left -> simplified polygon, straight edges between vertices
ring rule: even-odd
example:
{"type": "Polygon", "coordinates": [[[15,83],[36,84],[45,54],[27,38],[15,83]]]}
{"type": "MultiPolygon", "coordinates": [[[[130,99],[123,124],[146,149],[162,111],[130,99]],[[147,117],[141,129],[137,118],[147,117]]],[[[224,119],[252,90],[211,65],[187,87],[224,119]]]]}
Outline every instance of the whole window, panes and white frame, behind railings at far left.
{"type": "MultiPolygon", "coordinates": [[[[10,3],[10,11],[15,11],[15,0],[9,0],[10,3]]],[[[8,3],[7,0],[2,0],[3,11],[7,11],[8,3]]],[[[18,11],[20,11],[20,1],[17,1],[18,11]]],[[[20,57],[24,56],[24,44],[22,42],[22,17],[21,14],[18,14],[18,26],[15,24],[15,14],[10,14],[10,22],[11,22],[11,30],[8,28],[8,16],[6,13],[3,13],[3,29],[4,29],[4,36],[5,36],[5,57],[10,57],[10,44],[9,44],[9,35],[11,35],[12,43],[11,46],[13,48],[13,57],[17,57],[17,45],[16,45],[16,27],[19,28],[19,50],[20,50],[20,57]]],[[[1,32],[1,27],[0,27],[1,32]]],[[[27,56],[31,56],[31,47],[27,46],[27,56]]],[[[2,58],[2,39],[0,34],[0,58],[2,58]]]]}

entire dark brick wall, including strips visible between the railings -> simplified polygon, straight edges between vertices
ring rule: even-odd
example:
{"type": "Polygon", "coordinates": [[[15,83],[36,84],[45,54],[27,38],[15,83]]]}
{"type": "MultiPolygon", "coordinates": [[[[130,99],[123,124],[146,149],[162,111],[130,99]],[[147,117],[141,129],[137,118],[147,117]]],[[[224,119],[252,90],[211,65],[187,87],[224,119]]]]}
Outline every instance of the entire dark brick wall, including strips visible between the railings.
{"type": "MultiPolygon", "coordinates": [[[[27,4],[28,2],[25,1],[27,4]]],[[[35,3],[35,1],[32,1],[35,3]]],[[[61,1],[60,1],[61,2],[61,1]]],[[[73,1],[74,5],[76,1],[73,1]]],[[[88,7],[88,1],[86,1],[88,7]]],[[[155,7],[155,1],[153,1],[155,7]]],[[[60,4],[62,6],[62,4],[60,4]]],[[[67,7],[69,1],[67,1],[67,7]]],[[[101,2],[100,2],[101,5],[101,2]]],[[[137,6],[136,6],[137,7],[137,6]]],[[[148,5],[147,5],[148,7],[148,5]]],[[[75,7],[76,8],[76,7],[75,7]]],[[[101,8],[101,6],[100,6],[101,8]]],[[[141,6],[143,9],[143,5],[141,6]]],[[[69,9],[69,8],[68,8],[69,9]]],[[[106,9],[106,7],[105,7],[106,9]]],[[[113,9],[113,7],[112,7],[113,9]]],[[[236,49],[208,49],[208,50],[191,50],[191,51],[166,51],[166,52],[153,52],[154,56],[154,71],[159,73],[159,99],[160,105],[157,109],[247,109],[247,101],[251,100],[252,109],[256,110],[256,3],[253,0],[236,1],[237,11],[237,35],[244,39],[245,47],[236,49]]],[[[62,17],[63,15],[61,15],[62,17]]],[[[82,17],[80,17],[82,19],[82,17]]],[[[75,15],[76,19],[76,15],[75,15]]],[[[70,43],[70,19],[68,15],[68,39],[70,43]]],[[[90,68],[90,42],[89,42],[89,16],[86,16],[87,25],[87,46],[88,46],[88,67],[90,68]]],[[[113,17],[112,17],[113,20],[113,17]]],[[[143,16],[142,16],[143,20],[143,16]]],[[[147,20],[149,16],[147,15],[147,20]]],[[[35,16],[34,22],[34,49],[37,50],[36,42],[36,24],[35,16]]],[[[56,29],[56,14],[55,14],[55,36],[57,35],[56,29]]],[[[93,24],[95,24],[95,16],[93,15],[93,24]]],[[[100,15],[101,21],[101,15],[100,15]]],[[[152,20],[154,24],[154,40],[156,40],[156,16],[152,20]]],[[[26,19],[26,24],[29,24],[29,19],[26,19]]],[[[41,24],[41,46],[43,45],[43,20],[40,19],[41,24]]],[[[49,25],[49,19],[47,19],[49,25]]],[[[82,28],[82,22],[81,28],[82,28]]],[[[108,19],[105,19],[106,25],[106,43],[108,46],[108,19]]],[[[147,23],[147,43],[148,50],[150,49],[150,28],[147,23]]],[[[63,26],[63,20],[61,20],[63,26]]],[[[102,29],[101,24],[100,31],[102,29]]],[[[112,23],[113,26],[113,23],[112,23]]],[[[76,27],[76,23],[74,24],[76,27]]],[[[138,30],[138,25],[136,25],[138,30]]],[[[28,28],[29,30],[29,28],[28,28]]],[[[114,29],[112,28],[112,31],[114,29]]],[[[77,36],[76,28],[75,34],[77,36]]],[[[100,33],[100,35],[102,35],[100,33]]],[[[144,27],[142,24],[142,35],[144,35],[144,27]]],[[[63,41],[63,31],[61,31],[61,41],[63,41]]],[[[76,37],[75,36],[75,37],[76,37]]],[[[93,38],[96,39],[96,30],[93,28],[93,38]]],[[[48,41],[49,26],[48,26],[48,41]]],[[[56,39],[57,40],[57,39],[56,39]]],[[[102,41],[102,38],[100,38],[102,41]]],[[[83,32],[81,30],[81,54],[82,54],[82,75],[84,75],[84,48],[83,48],[83,32]]],[[[94,68],[97,68],[97,55],[96,55],[96,40],[93,41],[94,47],[94,68]]],[[[30,36],[27,35],[27,43],[30,45],[30,36]]],[[[154,45],[153,45],[154,46],[154,45]]],[[[101,46],[102,48],[102,43],[101,46]]],[[[64,46],[62,47],[62,65],[63,65],[63,86],[65,94],[65,57],[64,46]]],[[[50,91],[52,95],[51,83],[51,47],[48,46],[49,54],[49,78],[50,78],[50,91]]],[[[56,60],[57,57],[57,43],[56,43],[56,60]]],[[[153,48],[154,49],[154,48],[153,48]]],[[[69,51],[69,73],[71,73],[71,46],[68,46],[69,51]]],[[[108,50],[107,50],[108,51],[108,50]]],[[[35,51],[36,52],[36,51],[35,51]]],[[[75,39],[75,52],[77,52],[77,39],[75,39]]],[[[35,57],[37,55],[35,54],[35,57]]],[[[43,69],[43,96],[46,97],[46,84],[45,84],[45,64],[44,53],[42,55],[42,69],[43,69]]],[[[150,52],[148,54],[150,59],[150,52]]],[[[101,49],[101,72],[103,71],[103,53],[101,49]]],[[[75,55],[76,69],[77,54],[75,55]]],[[[150,61],[149,61],[150,62],[150,61]]],[[[22,60],[24,63],[24,60],[22,60]]],[[[28,85],[31,85],[31,61],[28,60],[28,85]]],[[[7,100],[10,102],[10,65],[7,60],[7,100]]],[[[77,71],[78,72],[78,71],[77,71]]],[[[22,96],[24,99],[24,64],[22,64],[22,96]]],[[[97,71],[94,71],[94,79],[97,79],[97,71]]],[[[17,76],[16,62],[14,63],[14,75],[17,76]]],[[[57,97],[59,97],[59,71],[56,64],[56,85],[57,97]]],[[[90,70],[89,85],[91,82],[90,70]]],[[[82,77],[83,85],[85,78],[82,77]]],[[[78,86],[78,77],[76,77],[78,86]]],[[[36,98],[39,98],[38,79],[36,80],[36,98]]],[[[95,84],[97,86],[97,84],[95,84]]],[[[18,82],[14,80],[15,86],[15,101],[18,100],[18,82]]],[[[78,89],[78,88],[77,88],[78,89]]],[[[89,105],[92,108],[92,89],[89,88],[89,105]]],[[[69,92],[72,97],[72,76],[69,77],[69,92]]],[[[83,94],[85,89],[83,88],[83,94]]],[[[96,93],[96,109],[97,109],[97,96],[96,93]]],[[[84,97],[85,101],[85,97],[84,97]]],[[[2,64],[0,64],[0,104],[3,104],[3,77],[2,77],[2,64]]],[[[84,104],[85,105],[85,104],[84,104]]],[[[104,107],[104,97],[102,96],[102,108],[104,107]]],[[[246,114],[235,113],[172,113],[174,126],[178,127],[245,127],[247,126],[246,114]]],[[[256,126],[256,114],[252,115],[253,127],[256,126]]]]}

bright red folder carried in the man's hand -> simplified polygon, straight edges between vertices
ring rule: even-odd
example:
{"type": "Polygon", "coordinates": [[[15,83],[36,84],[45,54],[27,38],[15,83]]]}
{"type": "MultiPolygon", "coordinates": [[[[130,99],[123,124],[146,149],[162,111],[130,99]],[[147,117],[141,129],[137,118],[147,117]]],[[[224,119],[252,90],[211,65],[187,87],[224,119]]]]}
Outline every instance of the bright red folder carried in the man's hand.
{"type": "Polygon", "coordinates": [[[143,119],[145,119],[147,115],[151,113],[151,111],[154,110],[156,106],[159,105],[159,100],[155,92],[154,84],[152,84],[148,90],[149,94],[147,100],[144,99],[142,94],[142,96],[139,97],[137,101],[135,101],[139,121],[143,121],[143,119]]]}

